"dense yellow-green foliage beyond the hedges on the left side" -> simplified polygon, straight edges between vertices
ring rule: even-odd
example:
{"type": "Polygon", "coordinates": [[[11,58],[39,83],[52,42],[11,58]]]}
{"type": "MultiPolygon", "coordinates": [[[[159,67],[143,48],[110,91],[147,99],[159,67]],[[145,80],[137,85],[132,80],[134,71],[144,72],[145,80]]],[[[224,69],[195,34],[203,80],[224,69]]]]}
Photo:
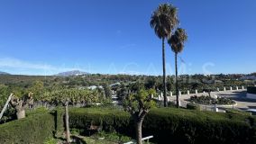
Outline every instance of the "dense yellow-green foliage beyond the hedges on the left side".
{"type": "MultiPolygon", "coordinates": [[[[110,97],[105,97],[104,89],[96,88],[90,90],[87,88],[72,88],[54,85],[45,86],[41,81],[34,81],[29,87],[18,87],[15,85],[0,85],[0,111],[3,109],[9,94],[25,100],[28,94],[32,94],[33,104],[31,108],[48,107],[54,108],[61,106],[67,99],[69,105],[83,107],[96,103],[108,103],[110,97]]],[[[0,123],[16,119],[14,108],[8,107],[0,123]]]]}

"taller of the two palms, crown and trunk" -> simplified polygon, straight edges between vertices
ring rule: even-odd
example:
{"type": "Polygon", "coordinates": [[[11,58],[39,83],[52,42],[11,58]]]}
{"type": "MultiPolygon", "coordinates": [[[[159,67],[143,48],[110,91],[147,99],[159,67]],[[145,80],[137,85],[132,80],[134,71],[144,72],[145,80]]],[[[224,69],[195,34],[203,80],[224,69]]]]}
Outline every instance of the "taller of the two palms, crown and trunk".
{"type": "Polygon", "coordinates": [[[151,15],[151,28],[156,35],[162,40],[162,71],[164,85],[164,106],[167,106],[167,87],[166,87],[166,70],[165,70],[165,47],[164,41],[171,31],[178,25],[177,8],[172,4],[160,4],[151,15]]]}

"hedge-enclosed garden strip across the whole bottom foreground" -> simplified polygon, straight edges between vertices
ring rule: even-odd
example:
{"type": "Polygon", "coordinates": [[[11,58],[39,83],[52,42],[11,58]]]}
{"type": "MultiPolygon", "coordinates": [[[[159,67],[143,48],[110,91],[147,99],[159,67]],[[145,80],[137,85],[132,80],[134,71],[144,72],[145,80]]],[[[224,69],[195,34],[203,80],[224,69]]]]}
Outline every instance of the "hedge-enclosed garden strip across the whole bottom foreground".
{"type": "MultiPolygon", "coordinates": [[[[0,125],[1,143],[60,143],[65,141],[64,110],[37,109],[22,120],[0,125]],[[21,132],[26,131],[26,132],[21,132]]],[[[154,108],[142,124],[143,137],[152,143],[253,143],[256,121],[239,113],[200,112],[176,108],[154,108]]],[[[70,108],[71,138],[77,143],[123,143],[135,139],[129,112],[115,107],[70,108]],[[89,128],[99,129],[89,129],[89,128]],[[83,141],[83,142],[82,142],[83,141]]]]}

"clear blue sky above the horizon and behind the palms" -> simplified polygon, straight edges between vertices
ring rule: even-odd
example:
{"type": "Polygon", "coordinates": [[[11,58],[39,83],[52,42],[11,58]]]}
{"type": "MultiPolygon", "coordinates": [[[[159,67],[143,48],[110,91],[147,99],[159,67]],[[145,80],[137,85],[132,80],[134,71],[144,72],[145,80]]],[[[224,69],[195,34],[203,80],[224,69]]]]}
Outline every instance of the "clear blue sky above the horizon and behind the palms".
{"type": "MultiPolygon", "coordinates": [[[[178,7],[188,34],[180,74],[256,71],[255,0],[0,0],[0,71],[161,75],[150,18],[166,2],[178,7]]],[[[170,75],[174,56],[166,48],[170,75]]]]}

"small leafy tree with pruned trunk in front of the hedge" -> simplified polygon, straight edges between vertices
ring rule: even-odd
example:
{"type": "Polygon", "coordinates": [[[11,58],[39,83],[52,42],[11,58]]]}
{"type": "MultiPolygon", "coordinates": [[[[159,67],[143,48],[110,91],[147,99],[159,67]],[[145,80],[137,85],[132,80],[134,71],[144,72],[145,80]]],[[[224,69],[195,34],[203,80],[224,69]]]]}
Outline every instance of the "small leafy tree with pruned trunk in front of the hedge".
{"type": "Polygon", "coordinates": [[[136,140],[138,144],[142,144],[142,121],[150,109],[156,105],[151,100],[152,94],[156,94],[154,89],[139,90],[134,94],[130,94],[123,101],[124,110],[130,112],[136,127],[136,140]]]}

